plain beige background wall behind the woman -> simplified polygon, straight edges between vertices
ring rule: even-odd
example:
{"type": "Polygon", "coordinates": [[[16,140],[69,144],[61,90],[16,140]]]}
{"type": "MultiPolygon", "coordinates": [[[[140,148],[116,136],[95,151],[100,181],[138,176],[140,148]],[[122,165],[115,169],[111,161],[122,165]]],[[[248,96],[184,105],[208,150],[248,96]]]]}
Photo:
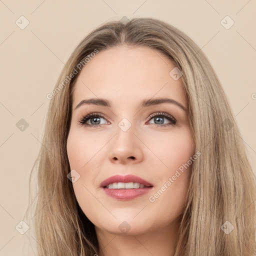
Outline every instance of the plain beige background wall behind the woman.
{"type": "Polygon", "coordinates": [[[30,229],[22,235],[15,226],[28,204],[46,94],[78,42],[106,20],[159,18],[198,44],[222,82],[255,171],[255,7],[252,0],[0,0],[0,256],[28,255],[30,229]],[[29,21],[24,29],[21,15],[29,21]],[[220,23],[226,15],[234,21],[229,29],[220,23]],[[16,127],[21,118],[23,131],[16,127]]]}

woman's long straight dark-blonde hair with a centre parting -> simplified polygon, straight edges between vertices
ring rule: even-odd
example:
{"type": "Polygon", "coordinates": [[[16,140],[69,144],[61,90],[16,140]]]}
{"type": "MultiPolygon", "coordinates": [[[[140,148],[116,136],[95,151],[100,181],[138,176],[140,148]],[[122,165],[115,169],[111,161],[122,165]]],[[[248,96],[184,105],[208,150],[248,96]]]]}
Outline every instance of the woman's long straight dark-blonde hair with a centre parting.
{"type": "Polygon", "coordinates": [[[175,256],[255,256],[255,180],[220,81],[187,35],[153,18],[108,21],[94,29],[74,49],[49,96],[42,146],[32,168],[38,171],[38,198],[30,226],[38,255],[98,253],[94,225],[81,211],[67,178],[66,140],[79,69],[71,79],[67,76],[95,49],[115,45],[157,49],[182,71],[194,150],[201,155],[192,165],[175,256]]]}

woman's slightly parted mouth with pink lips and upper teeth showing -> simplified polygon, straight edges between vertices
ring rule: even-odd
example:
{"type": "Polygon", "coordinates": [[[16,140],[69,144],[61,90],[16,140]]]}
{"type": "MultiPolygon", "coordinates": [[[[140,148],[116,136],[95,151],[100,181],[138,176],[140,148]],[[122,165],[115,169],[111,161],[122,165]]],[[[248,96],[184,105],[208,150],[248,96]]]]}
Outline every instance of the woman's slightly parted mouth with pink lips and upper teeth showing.
{"type": "Polygon", "coordinates": [[[148,193],[153,185],[134,175],[115,175],[105,179],[100,186],[104,193],[119,200],[130,200],[148,193]]]}

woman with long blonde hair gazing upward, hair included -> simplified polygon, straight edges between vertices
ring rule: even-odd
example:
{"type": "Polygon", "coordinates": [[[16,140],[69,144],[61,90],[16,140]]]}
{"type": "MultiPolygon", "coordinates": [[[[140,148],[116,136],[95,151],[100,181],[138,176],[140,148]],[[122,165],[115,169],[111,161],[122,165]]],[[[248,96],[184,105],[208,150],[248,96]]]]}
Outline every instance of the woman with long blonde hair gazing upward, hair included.
{"type": "Polygon", "coordinates": [[[153,18],[88,34],[50,100],[38,255],[255,255],[255,181],[198,46],[153,18]]]}

